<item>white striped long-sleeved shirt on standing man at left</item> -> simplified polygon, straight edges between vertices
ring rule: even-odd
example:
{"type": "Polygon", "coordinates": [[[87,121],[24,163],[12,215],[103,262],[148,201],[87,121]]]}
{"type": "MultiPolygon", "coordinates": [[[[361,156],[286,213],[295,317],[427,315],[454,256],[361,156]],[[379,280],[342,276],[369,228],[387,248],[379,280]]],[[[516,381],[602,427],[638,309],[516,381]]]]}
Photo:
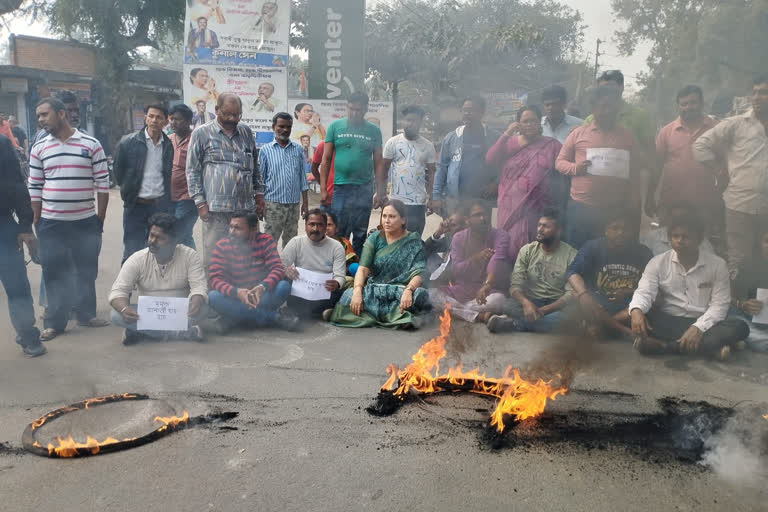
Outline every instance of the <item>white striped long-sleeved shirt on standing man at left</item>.
{"type": "Polygon", "coordinates": [[[96,192],[109,192],[109,168],[101,143],[79,130],[66,141],[48,134],[29,156],[29,197],[41,216],[80,220],[96,215],[96,192]]]}

